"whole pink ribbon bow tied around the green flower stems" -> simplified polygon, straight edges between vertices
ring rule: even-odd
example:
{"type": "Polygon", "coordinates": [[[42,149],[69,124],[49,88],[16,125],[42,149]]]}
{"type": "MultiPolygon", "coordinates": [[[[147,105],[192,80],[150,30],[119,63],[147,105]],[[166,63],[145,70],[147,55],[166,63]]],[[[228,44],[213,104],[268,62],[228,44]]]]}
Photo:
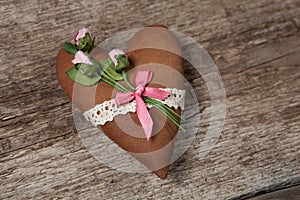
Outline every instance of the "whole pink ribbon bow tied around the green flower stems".
{"type": "Polygon", "coordinates": [[[147,140],[150,139],[153,127],[153,121],[148,112],[146,104],[142,96],[147,96],[149,98],[164,100],[171,92],[160,90],[158,88],[146,87],[146,85],[151,81],[153,72],[149,70],[140,70],[136,73],[135,85],[136,89],[134,92],[118,92],[116,94],[116,104],[122,105],[126,104],[133,99],[136,100],[136,113],[141,122],[141,125],[145,131],[147,140]]]}

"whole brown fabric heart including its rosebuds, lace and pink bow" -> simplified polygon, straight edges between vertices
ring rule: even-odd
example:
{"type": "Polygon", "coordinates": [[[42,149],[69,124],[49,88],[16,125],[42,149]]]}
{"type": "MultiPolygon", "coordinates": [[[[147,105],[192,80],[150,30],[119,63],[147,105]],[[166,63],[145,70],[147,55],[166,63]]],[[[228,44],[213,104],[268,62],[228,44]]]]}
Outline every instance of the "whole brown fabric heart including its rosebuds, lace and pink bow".
{"type": "Polygon", "coordinates": [[[183,60],[176,38],[165,26],[152,25],[127,42],[126,54],[97,48],[88,29],[81,29],[73,43],[66,43],[56,58],[59,84],[87,120],[157,176],[166,178],[184,106],[183,60]],[[100,64],[93,67],[94,63],[100,64]],[[74,79],[75,74],[80,80],[74,79]],[[113,108],[106,111],[107,105],[113,108]],[[137,137],[116,123],[115,119],[126,122],[128,117],[141,127],[137,137]],[[163,153],[146,156],[160,149],[163,153]]]}

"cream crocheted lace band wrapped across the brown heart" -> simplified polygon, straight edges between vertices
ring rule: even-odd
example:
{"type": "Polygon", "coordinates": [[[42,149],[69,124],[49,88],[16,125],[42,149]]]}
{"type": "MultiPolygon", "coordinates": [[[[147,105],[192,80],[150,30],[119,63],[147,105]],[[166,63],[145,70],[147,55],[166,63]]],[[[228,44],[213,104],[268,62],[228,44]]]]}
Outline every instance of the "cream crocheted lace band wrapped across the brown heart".
{"type": "MultiPolygon", "coordinates": [[[[185,90],[178,90],[176,88],[160,88],[172,94],[165,100],[158,100],[163,104],[178,109],[179,107],[184,110],[185,90]]],[[[147,104],[148,108],[152,106],[147,104]]],[[[112,121],[114,117],[129,112],[136,112],[136,101],[133,100],[127,104],[117,106],[115,99],[105,101],[96,105],[88,111],[83,113],[84,117],[90,121],[94,126],[104,125],[108,121],[112,121]]]]}

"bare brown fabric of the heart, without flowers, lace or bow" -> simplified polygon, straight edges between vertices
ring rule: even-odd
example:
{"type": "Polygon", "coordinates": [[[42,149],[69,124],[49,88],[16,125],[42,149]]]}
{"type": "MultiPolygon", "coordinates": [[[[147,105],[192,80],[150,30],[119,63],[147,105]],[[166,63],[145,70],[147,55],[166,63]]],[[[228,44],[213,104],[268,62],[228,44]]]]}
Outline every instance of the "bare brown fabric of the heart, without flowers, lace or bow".
{"type": "MultiPolygon", "coordinates": [[[[97,59],[106,58],[106,52],[96,49],[93,54],[97,59]]],[[[138,69],[150,69],[154,73],[151,87],[183,89],[183,60],[180,56],[180,47],[173,34],[163,25],[151,25],[141,29],[128,41],[127,53],[130,73],[129,80],[133,83],[135,72],[138,69]],[[171,69],[171,70],[170,70],[171,69]],[[175,73],[176,72],[176,73],[175,73]],[[160,84],[164,83],[164,84],[160,84]]],[[[75,83],[66,71],[73,67],[73,55],[60,50],[56,58],[56,74],[59,84],[65,94],[75,103],[81,111],[87,111],[96,104],[111,100],[114,97],[114,88],[99,82],[94,86],[83,86],[75,83]],[[76,93],[73,88],[76,87],[76,93]]],[[[180,114],[180,109],[173,109],[180,114]]],[[[130,153],[142,164],[153,171],[158,177],[167,177],[169,162],[172,156],[173,139],[178,132],[178,127],[169,119],[163,120],[162,128],[159,127],[164,115],[156,108],[150,109],[154,121],[153,132],[150,140],[144,137],[143,129],[138,129],[137,136],[125,133],[116,120],[99,126],[102,131],[119,147],[130,153]],[[163,151],[159,151],[163,149],[163,151]],[[147,156],[147,153],[159,152],[147,156]],[[158,168],[159,166],[162,166],[158,168]]],[[[130,117],[138,126],[140,122],[136,113],[119,115],[118,121],[128,120],[130,117]]]]}

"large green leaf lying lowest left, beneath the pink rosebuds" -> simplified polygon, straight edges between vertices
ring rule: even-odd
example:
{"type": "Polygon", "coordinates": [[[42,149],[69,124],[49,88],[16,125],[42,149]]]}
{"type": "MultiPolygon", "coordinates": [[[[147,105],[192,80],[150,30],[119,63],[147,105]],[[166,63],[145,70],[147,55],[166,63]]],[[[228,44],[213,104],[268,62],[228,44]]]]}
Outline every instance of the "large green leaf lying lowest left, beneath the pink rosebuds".
{"type": "Polygon", "coordinates": [[[91,86],[98,83],[101,79],[101,76],[96,75],[94,77],[88,77],[83,75],[79,70],[76,68],[76,66],[73,66],[71,69],[69,69],[66,74],[76,83],[79,83],[81,85],[85,86],[91,86]]]}

